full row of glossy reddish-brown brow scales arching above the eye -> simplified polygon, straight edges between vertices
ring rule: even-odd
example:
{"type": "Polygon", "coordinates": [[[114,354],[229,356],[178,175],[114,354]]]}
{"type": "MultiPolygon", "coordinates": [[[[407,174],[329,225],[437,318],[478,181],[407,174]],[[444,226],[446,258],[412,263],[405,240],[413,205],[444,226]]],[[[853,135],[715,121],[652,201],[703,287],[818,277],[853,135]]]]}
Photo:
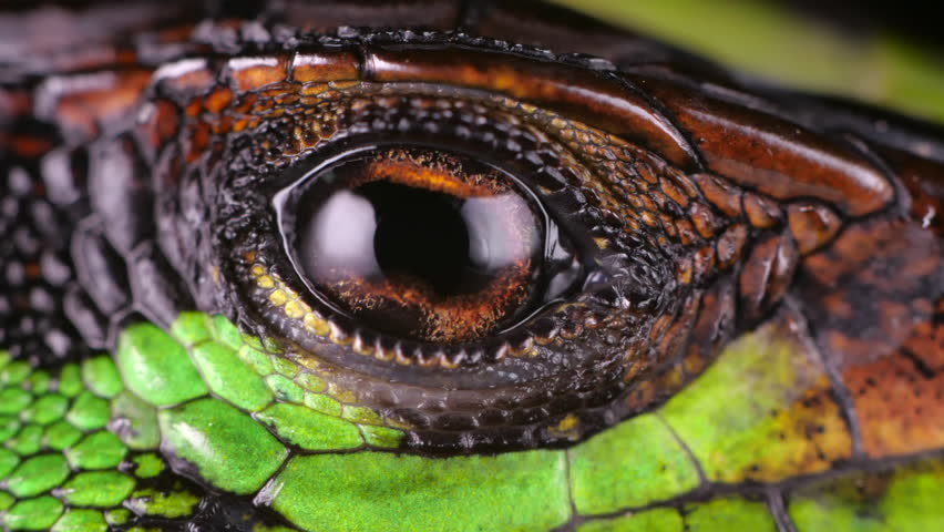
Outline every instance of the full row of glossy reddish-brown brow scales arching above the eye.
{"type": "MultiPolygon", "coordinates": [[[[455,41],[461,38],[454,35],[431,50],[430,42],[435,39],[424,39],[396,48],[371,40],[348,47],[237,55],[219,69],[197,57],[172,62],[153,78],[140,68],[104,75],[54,76],[38,88],[37,113],[57,123],[62,134],[78,144],[100,134],[100,125],[116,121],[123,111],[132,112],[140,100],[135,94],[143,96],[148,84],[185,108],[212,89],[217,94],[232,91],[229,98],[236,98],[284,82],[451,83],[557,110],[638,143],[679,170],[699,172],[707,167],[777,200],[812,195],[856,216],[881,209],[893,200],[892,186],[870,161],[802,125],[767,113],[736,91],[706,94],[687,86],[684,79],[667,81],[646,72],[607,70],[612,66],[608,63],[567,54],[555,57],[525,47],[511,53],[494,41],[488,49],[490,41],[482,39],[474,45],[484,50],[460,47],[455,41]],[[111,98],[116,95],[120,99],[111,98]],[[116,101],[124,108],[116,106],[116,101]],[[750,133],[767,130],[778,133],[750,133]],[[750,143],[736,150],[724,140],[748,136],[750,143]],[[767,153],[774,156],[765,156],[767,153]],[[786,185],[773,188],[755,176],[758,171],[787,174],[789,178],[786,185]]],[[[219,64],[216,60],[214,63],[219,64]]],[[[142,151],[152,152],[146,143],[142,151]]]]}

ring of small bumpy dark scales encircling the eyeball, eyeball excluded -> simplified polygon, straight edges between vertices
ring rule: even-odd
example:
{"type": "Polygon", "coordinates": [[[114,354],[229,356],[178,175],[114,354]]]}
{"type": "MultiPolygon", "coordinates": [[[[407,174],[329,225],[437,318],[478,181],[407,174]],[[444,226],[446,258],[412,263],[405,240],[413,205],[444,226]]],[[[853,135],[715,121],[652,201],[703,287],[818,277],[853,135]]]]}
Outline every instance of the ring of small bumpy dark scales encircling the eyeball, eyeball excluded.
{"type": "Polygon", "coordinates": [[[268,338],[279,357],[356,390],[345,401],[410,427],[406,446],[423,452],[561,442],[554,427],[570,413],[579,430],[566,438],[655,400],[628,390],[663,367],[645,351],[645,335],[656,316],[676,311],[668,307],[677,289],[671,249],[658,244],[657,219],[618,198],[647,186],[634,168],[661,171],[657,160],[582,122],[483,91],[373,82],[328,89],[293,113],[274,104],[222,146],[227,172],[209,208],[219,229],[202,242],[211,244],[212,274],[232,287],[220,303],[230,316],[268,338]],[[576,282],[519,325],[468,341],[374,330],[326,305],[289,259],[273,200],[314,166],[387,143],[458,152],[519,177],[555,222],[548,235],[558,231],[564,250],[579,257],[576,282]],[[642,359],[632,371],[628,357],[642,359]]]}

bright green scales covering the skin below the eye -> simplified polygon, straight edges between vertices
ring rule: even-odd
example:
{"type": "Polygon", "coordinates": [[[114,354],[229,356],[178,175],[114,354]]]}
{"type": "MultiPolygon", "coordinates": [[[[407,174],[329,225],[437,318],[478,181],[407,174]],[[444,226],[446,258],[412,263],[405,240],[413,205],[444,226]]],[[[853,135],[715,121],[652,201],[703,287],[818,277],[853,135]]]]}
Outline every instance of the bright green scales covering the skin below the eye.
{"type": "MultiPolygon", "coordinates": [[[[810,389],[823,370],[786,330],[738,340],[663,408],[568,450],[432,462],[383,452],[396,432],[220,316],[188,313],[168,332],[131,326],[116,364],[96,356],[50,372],[7,355],[2,519],[11,530],[183,526],[211,502],[175,471],[301,530],[777,530],[778,508],[797,530],[932,530],[944,462],[849,463],[838,407],[810,389]],[[798,472],[810,480],[791,481],[798,472]]],[[[254,519],[253,530],[286,525],[254,519]]]]}

